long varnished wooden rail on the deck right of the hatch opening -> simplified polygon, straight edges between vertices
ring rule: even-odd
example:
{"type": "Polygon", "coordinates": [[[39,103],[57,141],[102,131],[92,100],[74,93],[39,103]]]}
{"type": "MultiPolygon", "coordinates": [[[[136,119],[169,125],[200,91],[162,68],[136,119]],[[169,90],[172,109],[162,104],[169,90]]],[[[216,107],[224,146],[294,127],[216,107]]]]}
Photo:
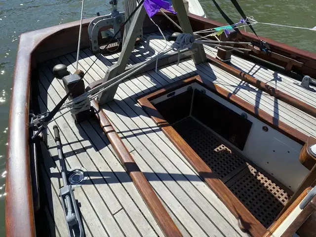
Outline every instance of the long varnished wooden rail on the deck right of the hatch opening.
{"type": "Polygon", "coordinates": [[[222,61],[210,56],[210,55],[206,55],[207,59],[209,62],[211,62],[212,64],[216,65],[217,67],[223,69],[225,72],[228,72],[232,75],[234,75],[235,77],[248,82],[249,84],[257,87],[258,89],[268,93],[271,96],[274,96],[275,98],[284,101],[285,103],[313,116],[314,118],[316,118],[316,108],[314,108],[313,106],[310,106],[282,91],[279,91],[278,89],[262,82],[261,80],[258,80],[252,76],[250,76],[249,74],[246,74],[240,70],[238,70],[237,68],[234,68],[233,66],[223,63],[222,61]]]}

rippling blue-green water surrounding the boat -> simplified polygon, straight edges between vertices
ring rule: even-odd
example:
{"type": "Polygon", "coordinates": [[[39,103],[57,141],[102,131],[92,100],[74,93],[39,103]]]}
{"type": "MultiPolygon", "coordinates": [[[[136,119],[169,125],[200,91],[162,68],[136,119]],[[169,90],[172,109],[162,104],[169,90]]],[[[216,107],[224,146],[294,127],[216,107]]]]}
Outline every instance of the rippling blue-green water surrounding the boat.
{"type": "MultiPolygon", "coordinates": [[[[119,10],[122,10],[122,1],[119,10]]],[[[200,0],[206,15],[221,22],[220,13],[210,0],[200,0]]],[[[234,22],[240,20],[230,0],[217,0],[234,22]]],[[[316,26],[315,0],[239,0],[247,16],[259,22],[271,22],[313,28],[316,26]]],[[[84,17],[107,14],[106,0],[85,0],[84,17]]],[[[4,229],[4,181],[8,114],[12,77],[19,35],[53,25],[79,20],[79,0],[0,0],[0,236],[4,229]]],[[[316,32],[289,28],[254,26],[257,34],[316,52],[316,32]]],[[[76,36],[77,37],[77,36],[76,36]]],[[[18,139],[18,138],[17,138],[18,139]]],[[[18,225],[18,223],[17,223],[18,225]]]]}

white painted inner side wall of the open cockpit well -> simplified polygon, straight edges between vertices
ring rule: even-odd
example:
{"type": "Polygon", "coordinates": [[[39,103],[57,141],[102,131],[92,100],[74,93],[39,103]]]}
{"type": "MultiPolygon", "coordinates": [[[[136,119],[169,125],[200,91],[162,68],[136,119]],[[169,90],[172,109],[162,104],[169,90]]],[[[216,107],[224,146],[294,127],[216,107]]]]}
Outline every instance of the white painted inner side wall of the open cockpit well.
{"type": "MultiPolygon", "coordinates": [[[[175,90],[175,94],[173,96],[185,92],[189,86],[192,86],[193,89],[204,89],[207,96],[215,99],[239,115],[245,113],[247,115],[247,119],[252,122],[252,126],[244,149],[241,151],[227,141],[228,144],[259,167],[263,168],[290,190],[293,192],[297,190],[306,175],[309,173],[309,170],[299,161],[300,150],[302,148],[301,144],[288,138],[261,120],[251,116],[249,113],[246,113],[227,100],[205,89],[198,83],[192,83],[175,90]],[[268,131],[264,131],[262,129],[263,126],[267,126],[268,131]]],[[[170,93],[168,93],[168,95],[170,93]]],[[[152,102],[157,104],[168,99],[168,95],[163,95],[155,100],[152,100],[152,102]]],[[[211,110],[212,108],[206,109],[211,110]]],[[[216,132],[214,133],[216,134],[216,132]]]]}

